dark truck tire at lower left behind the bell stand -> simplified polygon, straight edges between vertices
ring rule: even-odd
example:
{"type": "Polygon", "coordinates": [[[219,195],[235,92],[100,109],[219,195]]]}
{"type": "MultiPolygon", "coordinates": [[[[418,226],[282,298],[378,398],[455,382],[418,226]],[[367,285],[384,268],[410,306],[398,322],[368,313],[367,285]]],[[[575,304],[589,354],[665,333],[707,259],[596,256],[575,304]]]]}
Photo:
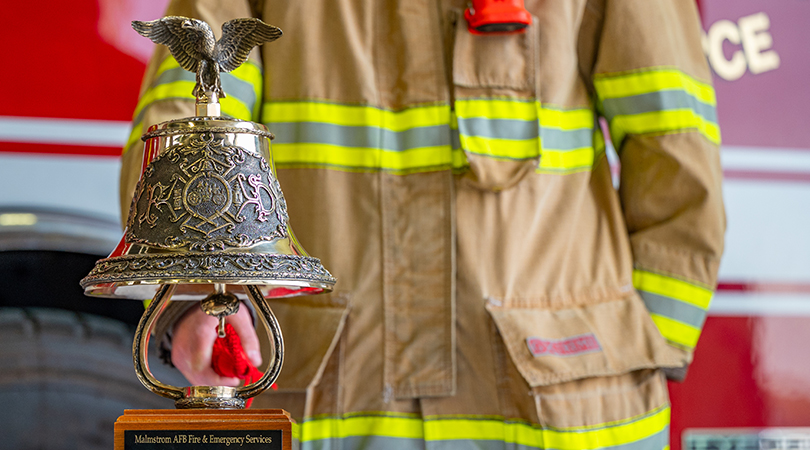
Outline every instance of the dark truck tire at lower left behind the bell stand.
{"type": "MultiPolygon", "coordinates": [[[[109,450],[124,409],[173,408],[136,378],[132,335],[131,327],[90,314],[0,308],[0,447],[109,450]]],[[[150,369],[185,385],[156,358],[150,369]]]]}

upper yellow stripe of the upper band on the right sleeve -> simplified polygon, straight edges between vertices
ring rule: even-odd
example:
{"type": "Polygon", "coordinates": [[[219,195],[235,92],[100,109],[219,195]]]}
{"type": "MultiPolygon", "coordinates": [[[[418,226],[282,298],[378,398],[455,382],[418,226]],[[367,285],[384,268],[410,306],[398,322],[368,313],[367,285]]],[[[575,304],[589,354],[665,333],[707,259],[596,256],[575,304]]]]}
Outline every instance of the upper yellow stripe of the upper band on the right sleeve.
{"type": "Polygon", "coordinates": [[[602,98],[630,97],[650,92],[683,89],[703,103],[715,106],[714,89],[708,83],[674,68],[651,68],[638,72],[597,74],[594,85],[602,98]]]}

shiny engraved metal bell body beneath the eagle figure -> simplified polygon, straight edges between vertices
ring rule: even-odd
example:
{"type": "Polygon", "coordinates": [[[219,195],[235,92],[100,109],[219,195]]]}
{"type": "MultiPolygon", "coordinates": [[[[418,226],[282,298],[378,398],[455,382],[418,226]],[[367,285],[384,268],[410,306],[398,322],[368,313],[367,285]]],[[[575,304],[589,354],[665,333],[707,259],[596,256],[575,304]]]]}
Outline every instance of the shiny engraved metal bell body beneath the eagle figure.
{"type": "MultiPolygon", "coordinates": [[[[264,125],[189,117],[150,127],[124,238],[81,281],[88,295],[200,300],[212,284],[257,285],[265,297],[331,291],[335,279],[301,247],[287,216],[264,125]]],[[[241,293],[241,289],[238,290],[241,293]]]]}

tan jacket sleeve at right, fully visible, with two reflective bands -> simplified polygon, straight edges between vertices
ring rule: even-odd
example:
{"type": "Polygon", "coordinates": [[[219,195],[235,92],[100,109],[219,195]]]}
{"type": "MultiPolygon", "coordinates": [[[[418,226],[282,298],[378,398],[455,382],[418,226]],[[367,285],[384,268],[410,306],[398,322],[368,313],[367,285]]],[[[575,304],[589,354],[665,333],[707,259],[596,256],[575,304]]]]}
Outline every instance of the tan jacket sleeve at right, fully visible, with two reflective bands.
{"type": "Polygon", "coordinates": [[[720,134],[694,0],[602,0],[591,73],[619,154],[633,285],[685,365],[723,251],[720,134]]]}

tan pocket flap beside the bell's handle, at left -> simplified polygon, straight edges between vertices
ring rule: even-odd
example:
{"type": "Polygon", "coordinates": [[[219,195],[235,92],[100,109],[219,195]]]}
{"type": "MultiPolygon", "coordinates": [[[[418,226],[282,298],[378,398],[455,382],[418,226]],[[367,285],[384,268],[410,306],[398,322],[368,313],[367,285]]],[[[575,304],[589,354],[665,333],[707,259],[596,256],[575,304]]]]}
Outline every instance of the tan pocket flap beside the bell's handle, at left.
{"type": "MultiPolygon", "coordinates": [[[[284,365],[276,380],[280,392],[304,391],[318,383],[349,313],[339,295],[268,300],[284,336],[284,365]]],[[[269,348],[262,342],[262,348],[269,348]]],[[[269,355],[264,355],[267,361],[269,355]]]]}

